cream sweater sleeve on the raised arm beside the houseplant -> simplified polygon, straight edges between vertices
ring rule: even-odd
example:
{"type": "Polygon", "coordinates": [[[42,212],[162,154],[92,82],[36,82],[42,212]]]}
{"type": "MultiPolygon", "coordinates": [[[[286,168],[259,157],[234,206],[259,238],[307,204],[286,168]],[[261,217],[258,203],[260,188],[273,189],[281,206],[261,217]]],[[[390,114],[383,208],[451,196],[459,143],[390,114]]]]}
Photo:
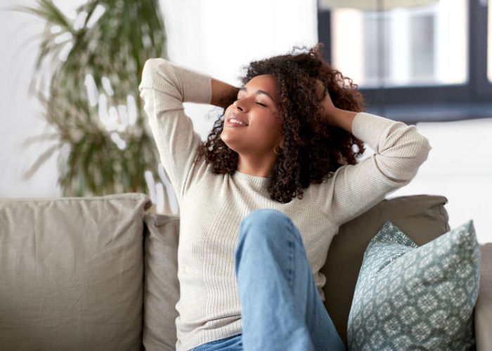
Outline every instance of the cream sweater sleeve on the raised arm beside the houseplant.
{"type": "Polygon", "coordinates": [[[151,58],[143,66],[138,89],[160,161],[181,204],[183,194],[205,167],[193,163],[202,140],[184,113],[183,102],[209,104],[211,77],[163,58],[151,58]]]}

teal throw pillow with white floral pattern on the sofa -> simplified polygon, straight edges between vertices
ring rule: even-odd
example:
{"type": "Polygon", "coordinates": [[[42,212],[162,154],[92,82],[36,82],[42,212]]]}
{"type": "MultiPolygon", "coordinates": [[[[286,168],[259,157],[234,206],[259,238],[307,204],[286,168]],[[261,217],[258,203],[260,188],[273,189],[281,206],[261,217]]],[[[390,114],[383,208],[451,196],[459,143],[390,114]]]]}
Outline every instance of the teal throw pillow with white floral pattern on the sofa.
{"type": "Polygon", "coordinates": [[[473,220],[420,247],[387,221],[364,253],[349,350],[474,348],[479,267],[473,220]]]}

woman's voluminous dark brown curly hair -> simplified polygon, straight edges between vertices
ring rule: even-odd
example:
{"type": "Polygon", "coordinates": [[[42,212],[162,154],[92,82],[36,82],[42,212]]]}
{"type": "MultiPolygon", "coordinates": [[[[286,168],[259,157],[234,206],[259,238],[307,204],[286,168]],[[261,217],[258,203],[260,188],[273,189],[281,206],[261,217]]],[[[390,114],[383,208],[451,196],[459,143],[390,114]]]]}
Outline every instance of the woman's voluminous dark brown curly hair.
{"type": "MultiPolygon", "coordinates": [[[[344,164],[356,164],[356,157],[365,150],[363,141],[328,124],[323,117],[321,101],[325,95],[321,99],[316,97],[316,79],[323,83],[325,93],[330,93],[335,107],[361,112],[365,111],[365,103],[357,84],[331,67],[323,59],[321,48],[322,43],[309,50],[294,46],[286,55],[253,61],[240,78],[242,84],[261,74],[271,74],[276,79],[284,145],[268,176],[267,190],[272,199],[281,203],[288,203],[294,197],[302,199],[302,189],[331,178],[344,164]],[[299,49],[304,53],[294,53],[299,49]]],[[[227,105],[231,105],[237,97],[231,95],[227,100],[227,105]]],[[[239,155],[220,138],[225,111],[215,121],[207,140],[198,147],[195,162],[205,155],[214,173],[233,174],[239,155]]]]}

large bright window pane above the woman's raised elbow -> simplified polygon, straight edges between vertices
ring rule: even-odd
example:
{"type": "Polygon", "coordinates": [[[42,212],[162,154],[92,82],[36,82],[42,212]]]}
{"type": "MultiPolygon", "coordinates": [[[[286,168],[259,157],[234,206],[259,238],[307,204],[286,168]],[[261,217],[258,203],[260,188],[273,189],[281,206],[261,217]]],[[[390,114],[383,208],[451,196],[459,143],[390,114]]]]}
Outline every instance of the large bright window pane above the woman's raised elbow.
{"type": "Polygon", "coordinates": [[[361,87],[467,81],[465,0],[384,12],[337,8],[331,32],[332,65],[361,87]]]}

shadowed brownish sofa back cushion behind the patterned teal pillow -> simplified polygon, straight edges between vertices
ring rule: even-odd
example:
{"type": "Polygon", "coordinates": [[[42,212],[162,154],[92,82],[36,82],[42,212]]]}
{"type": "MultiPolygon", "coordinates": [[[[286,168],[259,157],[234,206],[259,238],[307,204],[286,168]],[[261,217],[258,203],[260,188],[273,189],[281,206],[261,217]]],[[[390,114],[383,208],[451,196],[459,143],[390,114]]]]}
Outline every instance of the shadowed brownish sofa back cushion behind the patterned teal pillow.
{"type": "Polygon", "coordinates": [[[426,244],[450,230],[448,213],[444,208],[447,201],[446,197],[434,195],[384,199],[340,226],[320,272],[326,277],[323,287],[326,310],[346,345],[351,303],[370,239],[387,220],[391,220],[417,245],[426,244]]]}

